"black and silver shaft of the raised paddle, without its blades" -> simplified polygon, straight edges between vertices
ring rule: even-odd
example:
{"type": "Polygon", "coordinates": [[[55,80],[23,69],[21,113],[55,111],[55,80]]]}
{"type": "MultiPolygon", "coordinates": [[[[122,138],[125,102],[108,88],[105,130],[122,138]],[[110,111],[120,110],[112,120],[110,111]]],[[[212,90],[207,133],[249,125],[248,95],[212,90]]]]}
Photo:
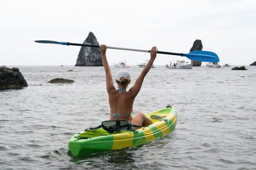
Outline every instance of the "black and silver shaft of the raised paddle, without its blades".
{"type": "MultiPolygon", "coordinates": [[[[93,44],[77,44],[77,43],[70,43],[67,42],[67,45],[71,46],[85,46],[85,47],[98,47],[99,45],[93,45],[93,44]]],[[[138,50],[138,49],[128,49],[128,48],[120,48],[120,47],[110,47],[107,46],[107,49],[116,49],[116,50],[126,50],[126,51],[139,51],[139,52],[150,52],[150,50],[138,50]]],[[[165,51],[158,51],[159,54],[169,54],[169,55],[180,55],[183,56],[183,53],[176,53],[176,52],[165,52],[165,51]]]]}

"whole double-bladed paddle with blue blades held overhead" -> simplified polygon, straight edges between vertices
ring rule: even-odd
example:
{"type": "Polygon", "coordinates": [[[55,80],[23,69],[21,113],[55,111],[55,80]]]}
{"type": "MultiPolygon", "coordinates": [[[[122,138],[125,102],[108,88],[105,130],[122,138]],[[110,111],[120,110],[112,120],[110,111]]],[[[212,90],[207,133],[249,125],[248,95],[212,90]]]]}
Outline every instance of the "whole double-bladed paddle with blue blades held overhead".
{"type": "MultiPolygon", "coordinates": [[[[37,40],[37,43],[47,43],[47,44],[60,44],[60,45],[67,45],[67,46],[85,46],[85,47],[98,47],[99,45],[92,45],[92,44],[76,44],[70,42],[58,42],[58,41],[49,41],[49,40],[37,40]]],[[[138,50],[138,49],[127,49],[127,48],[120,48],[120,47],[110,47],[107,46],[108,49],[116,49],[116,50],[127,50],[127,51],[140,51],[140,52],[150,52],[150,50],[138,50]]],[[[165,52],[165,51],[158,51],[159,54],[169,54],[169,55],[180,55],[186,56],[190,60],[195,61],[204,61],[204,62],[219,62],[219,58],[216,53],[211,51],[192,51],[188,54],[184,53],[176,53],[176,52],[165,52]]]]}

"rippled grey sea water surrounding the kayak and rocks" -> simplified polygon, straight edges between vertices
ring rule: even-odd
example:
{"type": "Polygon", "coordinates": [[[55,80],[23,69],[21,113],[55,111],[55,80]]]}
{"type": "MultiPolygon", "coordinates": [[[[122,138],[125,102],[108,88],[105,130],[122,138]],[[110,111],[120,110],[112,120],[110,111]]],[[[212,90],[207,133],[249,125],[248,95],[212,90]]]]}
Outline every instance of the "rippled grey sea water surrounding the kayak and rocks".
{"type": "MultiPolygon", "coordinates": [[[[80,156],[68,148],[71,136],[109,119],[104,68],[6,67],[19,68],[28,87],[0,91],[0,170],[256,170],[256,66],[151,68],[132,115],[170,104],[175,130],[138,147],[80,156]],[[47,83],[55,78],[75,82],[47,83]]],[[[131,87],[142,68],[126,69],[131,87]]],[[[119,68],[111,70],[115,80],[119,68]]]]}

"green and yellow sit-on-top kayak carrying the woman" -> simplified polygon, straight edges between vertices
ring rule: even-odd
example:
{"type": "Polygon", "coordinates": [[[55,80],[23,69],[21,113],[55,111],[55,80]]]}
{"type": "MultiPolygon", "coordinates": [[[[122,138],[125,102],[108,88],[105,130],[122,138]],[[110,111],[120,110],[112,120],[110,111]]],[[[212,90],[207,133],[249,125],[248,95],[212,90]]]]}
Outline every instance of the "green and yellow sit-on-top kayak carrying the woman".
{"type": "Polygon", "coordinates": [[[74,156],[136,147],[162,138],[176,127],[177,112],[173,106],[167,105],[164,109],[145,115],[152,120],[153,124],[136,130],[119,129],[118,132],[109,131],[102,126],[85,129],[70,138],[68,147],[74,156]]]}

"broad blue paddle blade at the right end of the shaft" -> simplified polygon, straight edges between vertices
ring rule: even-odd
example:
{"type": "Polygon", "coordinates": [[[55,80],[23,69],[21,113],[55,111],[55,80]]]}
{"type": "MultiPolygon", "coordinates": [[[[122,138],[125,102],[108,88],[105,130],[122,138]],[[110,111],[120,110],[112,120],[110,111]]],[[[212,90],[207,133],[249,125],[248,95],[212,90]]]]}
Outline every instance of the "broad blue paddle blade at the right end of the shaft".
{"type": "Polygon", "coordinates": [[[191,51],[188,54],[183,54],[190,60],[204,61],[204,62],[219,62],[219,58],[216,53],[211,51],[191,51]]]}

